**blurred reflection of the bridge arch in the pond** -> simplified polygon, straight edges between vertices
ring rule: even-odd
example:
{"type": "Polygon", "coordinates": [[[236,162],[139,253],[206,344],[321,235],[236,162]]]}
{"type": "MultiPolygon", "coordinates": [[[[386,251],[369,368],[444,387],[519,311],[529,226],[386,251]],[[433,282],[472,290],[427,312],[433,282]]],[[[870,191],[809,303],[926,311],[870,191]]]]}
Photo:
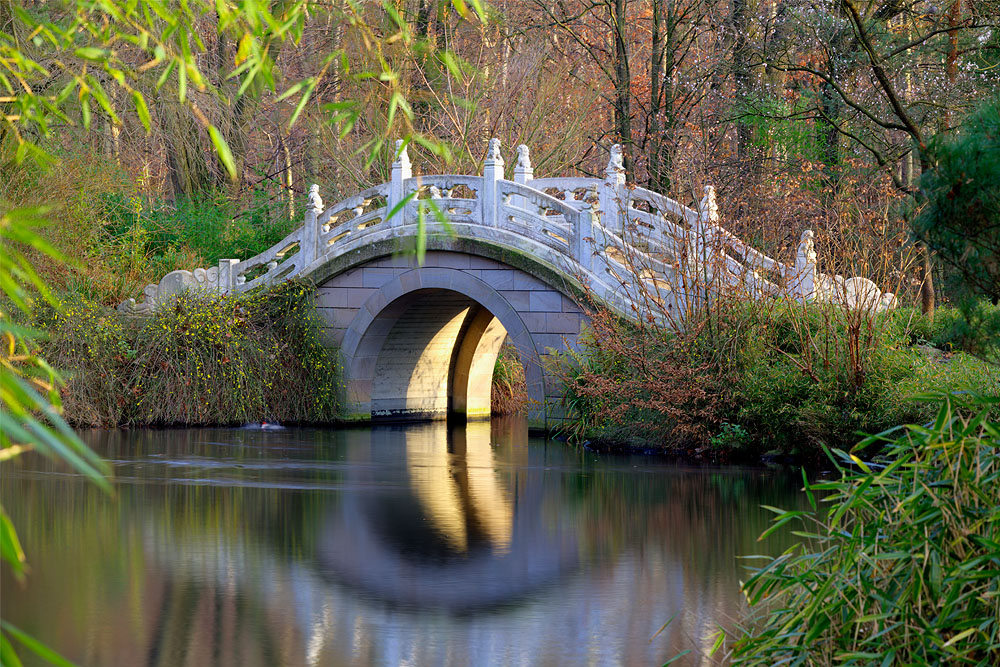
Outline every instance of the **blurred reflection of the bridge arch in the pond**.
{"type": "Polygon", "coordinates": [[[390,488],[345,496],[323,522],[324,574],[385,603],[469,611],[511,602],[578,566],[570,526],[541,520],[539,491],[518,493],[523,445],[497,446],[489,422],[369,434],[352,456],[366,465],[353,469],[384,477],[393,459],[398,465],[401,436],[405,465],[390,488]]]}

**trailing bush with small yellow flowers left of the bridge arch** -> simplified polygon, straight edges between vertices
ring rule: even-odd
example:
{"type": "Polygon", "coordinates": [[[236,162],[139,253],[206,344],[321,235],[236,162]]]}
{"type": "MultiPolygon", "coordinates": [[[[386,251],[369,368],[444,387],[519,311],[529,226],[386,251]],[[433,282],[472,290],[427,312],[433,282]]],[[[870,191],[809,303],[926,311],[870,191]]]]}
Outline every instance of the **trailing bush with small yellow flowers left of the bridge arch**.
{"type": "Polygon", "coordinates": [[[328,422],[340,373],[312,298],[297,281],[246,296],[192,292],[146,320],[77,302],[45,322],[44,351],[72,369],[74,423],[328,422]]]}

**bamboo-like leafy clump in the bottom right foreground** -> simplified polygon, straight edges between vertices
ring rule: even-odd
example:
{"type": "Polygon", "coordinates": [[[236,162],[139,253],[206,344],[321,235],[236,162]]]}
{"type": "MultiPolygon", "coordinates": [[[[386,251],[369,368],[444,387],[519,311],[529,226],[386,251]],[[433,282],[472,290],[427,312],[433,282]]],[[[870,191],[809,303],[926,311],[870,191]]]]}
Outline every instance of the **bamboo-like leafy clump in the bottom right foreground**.
{"type": "Polygon", "coordinates": [[[813,511],[774,508],[803,542],[744,586],[756,615],[736,665],[1000,662],[1000,399],[945,395],[932,424],[836,451],[839,478],[806,485],[813,511]],[[821,497],[828,507],[816,506],[821,497]]]}

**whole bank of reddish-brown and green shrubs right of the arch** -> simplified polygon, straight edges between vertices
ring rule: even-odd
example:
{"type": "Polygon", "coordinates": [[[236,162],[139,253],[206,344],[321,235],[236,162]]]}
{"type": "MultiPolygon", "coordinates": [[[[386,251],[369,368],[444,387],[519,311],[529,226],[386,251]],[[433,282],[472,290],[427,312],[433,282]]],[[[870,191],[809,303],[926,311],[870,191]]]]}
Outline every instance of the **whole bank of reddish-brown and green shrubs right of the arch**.
{"type": "MultiPolygon", "coordinates": [[[[984,306],[995,309],[995,306],[984,306]]],[[[954,308],[931,320],[836,306],[726,303],[681,332],[597,311],[562,359],[561,434],[600,451],[668,451],[715,461],[825,461],[860,434],[922,424],[928,392],[995,395],[954,308]]]]}

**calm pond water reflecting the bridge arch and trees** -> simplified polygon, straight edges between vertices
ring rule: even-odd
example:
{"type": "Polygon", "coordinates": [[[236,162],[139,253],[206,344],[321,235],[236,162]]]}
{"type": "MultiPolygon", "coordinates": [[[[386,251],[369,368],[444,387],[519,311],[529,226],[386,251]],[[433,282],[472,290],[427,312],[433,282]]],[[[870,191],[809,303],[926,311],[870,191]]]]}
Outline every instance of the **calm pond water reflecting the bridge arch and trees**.
{"type": "Polygon", "coordinates": [[[713,664],[761,505],[801,477],[597,455],[493,420],[95,431],[109,497],[0,488],[32,571],[3,617],[83,665],[713,664]]]}

